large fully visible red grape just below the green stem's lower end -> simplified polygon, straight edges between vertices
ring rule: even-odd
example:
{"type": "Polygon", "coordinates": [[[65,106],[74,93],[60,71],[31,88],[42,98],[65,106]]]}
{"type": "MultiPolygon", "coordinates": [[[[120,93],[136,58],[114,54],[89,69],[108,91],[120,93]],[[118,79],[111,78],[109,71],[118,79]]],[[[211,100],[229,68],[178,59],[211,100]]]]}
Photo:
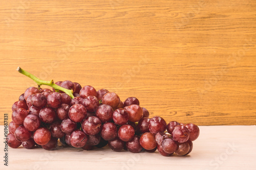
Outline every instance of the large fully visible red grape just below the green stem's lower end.
{"type": "Polygon", "coordinates": [[[69,118],[73,122],[82,122],[84,118],[86,118],[87,110],[83,105],[75,104],[69,109],[69,118]]]}

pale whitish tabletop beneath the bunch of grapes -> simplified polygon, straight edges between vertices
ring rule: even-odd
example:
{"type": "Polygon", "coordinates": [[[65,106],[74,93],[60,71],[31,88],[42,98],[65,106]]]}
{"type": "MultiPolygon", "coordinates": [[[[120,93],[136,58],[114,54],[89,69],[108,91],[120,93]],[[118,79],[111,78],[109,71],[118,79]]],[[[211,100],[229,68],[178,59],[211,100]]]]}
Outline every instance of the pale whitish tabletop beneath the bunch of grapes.
{"type": "MultiPolygon", "coordinates": [[[[1,126],[1,134],[4,127],[1,126]]],[[[8,167],[1,169],[256,169],[256,126],[200,126],[200,136],[187,156],[155,153],[113,152],[108,147],[83,151],[9,148],[8,167]]],[[[4,148],[1,142],[1,148],[4,148]]],[[[2,149],[1,149],[2,150],[2,149]]],[[[2,150],[2,155],[4,155],[2,150]]],[[[2,168],[4,167],[4,168],[2,168]]]]}

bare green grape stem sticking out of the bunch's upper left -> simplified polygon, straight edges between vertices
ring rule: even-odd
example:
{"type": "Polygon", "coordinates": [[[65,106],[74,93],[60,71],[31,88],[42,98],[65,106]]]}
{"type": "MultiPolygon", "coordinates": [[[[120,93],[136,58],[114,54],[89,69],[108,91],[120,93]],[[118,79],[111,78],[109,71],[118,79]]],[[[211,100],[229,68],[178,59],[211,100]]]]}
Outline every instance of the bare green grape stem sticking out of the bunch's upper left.
{"type": "Polygon", "coordinates": [[[66,94],[68,94],[70,96],[71,99],[75,98],[73,95],[73,90],[69,90],[67,88],[60,87],[60,86],[54,84],[53,80],[44,81],[44,80],[38,79],[37,77],[35,77],[34,75],[30,74],[28,71],[25,71],[24,69],[22,69],[20,67],[17,68],[17,71],[19,73],[29,77],[34,82],[36,82],[36,84],[38,85],[39,88],[40,88],[40,85],[47,85],[47,86],[54,88],[56,91],[61,90],[61,91],[65,92],[66,94]]]}

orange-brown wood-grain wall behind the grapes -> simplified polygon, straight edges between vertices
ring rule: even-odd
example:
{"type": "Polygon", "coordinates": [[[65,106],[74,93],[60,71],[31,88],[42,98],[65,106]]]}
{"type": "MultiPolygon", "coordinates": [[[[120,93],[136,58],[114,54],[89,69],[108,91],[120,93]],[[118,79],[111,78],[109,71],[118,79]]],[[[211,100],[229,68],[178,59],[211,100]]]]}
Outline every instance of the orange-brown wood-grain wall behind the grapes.
{"type": "Polygon", "coordinates": [[[15,69],[136,96],[151,116],[256,125],[256,1],[0,2],[0,113],[35,85],[15,69]]]}

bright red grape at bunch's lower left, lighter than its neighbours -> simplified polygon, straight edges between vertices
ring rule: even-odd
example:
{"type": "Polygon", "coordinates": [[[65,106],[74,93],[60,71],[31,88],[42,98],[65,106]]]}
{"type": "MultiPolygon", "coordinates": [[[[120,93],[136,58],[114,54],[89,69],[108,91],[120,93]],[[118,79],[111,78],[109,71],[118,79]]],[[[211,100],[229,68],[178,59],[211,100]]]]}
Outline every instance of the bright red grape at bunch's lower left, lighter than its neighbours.
{"type": "Polygon", "coordinates": [[[39,128],[35,131],[33,138],[37,144],[45,145],[51,139],[51,132],[47,128],[39,128]]]}

